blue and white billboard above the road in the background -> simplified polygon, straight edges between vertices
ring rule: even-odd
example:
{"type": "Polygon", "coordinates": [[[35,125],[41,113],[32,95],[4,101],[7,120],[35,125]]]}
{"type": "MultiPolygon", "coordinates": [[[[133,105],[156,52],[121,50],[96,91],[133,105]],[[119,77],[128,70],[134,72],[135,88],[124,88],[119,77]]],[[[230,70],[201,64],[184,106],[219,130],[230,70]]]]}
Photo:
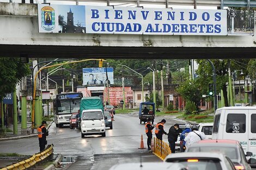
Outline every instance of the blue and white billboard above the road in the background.
{"type": "Polygon", "coordinates": [[[114,84],[114,69],[112,67],[83,68],[83,85],[87,86],[106,86],[114,84]]]}

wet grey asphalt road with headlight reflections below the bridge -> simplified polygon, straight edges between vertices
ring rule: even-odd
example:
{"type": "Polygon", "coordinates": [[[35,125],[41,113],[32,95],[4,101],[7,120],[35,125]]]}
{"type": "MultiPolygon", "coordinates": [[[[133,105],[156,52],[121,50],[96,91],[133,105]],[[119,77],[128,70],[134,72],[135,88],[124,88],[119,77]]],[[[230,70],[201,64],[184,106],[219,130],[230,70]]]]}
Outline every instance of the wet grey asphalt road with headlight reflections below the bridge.
{"type": "MultiPolygon", "coordinates": [[[[162,118],[167,120],[164,127],[166,131],[174,123],[184,123],[173,119],[173,116],[156,117],[155,123],[162,118]]],[[[56,128],[53,123],[47,136],[48,144],[54,144],[54,154],[60,153],[75,160],[64,169],[109,169],[116,163],[161,161],[147,149],[138,149],[141,135],[144,147],[147,147],[147,136],[144,124],[139,124],[137,114],[115,115],[114,119],[113,129],[107,129],[106,137],[94,135],[81,138],[79,130],[70,129],[68,126],[56,128]]],[[[163,140],[167,141],[167,136],[163,136],[163,140]]],[[[37,137],[0,141],[0,146],[0,153],[33,155],[39,152],[37,137]]]]}

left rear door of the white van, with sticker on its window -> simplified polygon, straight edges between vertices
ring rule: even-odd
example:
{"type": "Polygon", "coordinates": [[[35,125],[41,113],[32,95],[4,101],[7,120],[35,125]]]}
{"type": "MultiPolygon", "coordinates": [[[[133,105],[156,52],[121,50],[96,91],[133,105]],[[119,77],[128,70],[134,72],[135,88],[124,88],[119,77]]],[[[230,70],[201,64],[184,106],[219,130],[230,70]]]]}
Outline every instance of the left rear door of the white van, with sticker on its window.
{"type": "Polygon", "coordinates": [[[225,110],[226,125],[223,138],[237,140],[245,153],[248,150],[248,109],[225,110]]]}

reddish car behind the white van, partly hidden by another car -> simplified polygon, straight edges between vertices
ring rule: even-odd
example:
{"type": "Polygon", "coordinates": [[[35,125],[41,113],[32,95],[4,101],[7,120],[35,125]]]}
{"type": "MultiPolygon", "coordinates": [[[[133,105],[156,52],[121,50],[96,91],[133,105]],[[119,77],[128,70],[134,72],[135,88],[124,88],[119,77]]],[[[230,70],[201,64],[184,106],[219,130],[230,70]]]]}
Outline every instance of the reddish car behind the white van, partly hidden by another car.
{"type": "MultiPolygon", "coordinates": [[[[251,152],[246,155],[239,141],[235,140],[202,140],[191,144],[185,152],[218,152],[227,155],[234,163],[237,170],[251,170],[248,162],[251,163],[252,158],[247,162],[246,156],[251,156],[251,152]]],[[[256,161],[256,160],[255,160],[256,161]]]]}

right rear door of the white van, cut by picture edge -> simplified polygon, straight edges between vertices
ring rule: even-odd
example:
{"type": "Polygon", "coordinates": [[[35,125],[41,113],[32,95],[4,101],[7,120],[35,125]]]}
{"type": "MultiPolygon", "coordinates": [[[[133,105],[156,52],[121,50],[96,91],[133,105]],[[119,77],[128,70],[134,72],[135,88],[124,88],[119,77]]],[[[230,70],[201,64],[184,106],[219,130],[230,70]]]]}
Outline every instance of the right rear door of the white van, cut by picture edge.
{"type": "Polygon", "coordinates": [[[256,110],[249,110],[248,121],[248,151],[252,152],[251,158],[256,157],[256,110]]]}

